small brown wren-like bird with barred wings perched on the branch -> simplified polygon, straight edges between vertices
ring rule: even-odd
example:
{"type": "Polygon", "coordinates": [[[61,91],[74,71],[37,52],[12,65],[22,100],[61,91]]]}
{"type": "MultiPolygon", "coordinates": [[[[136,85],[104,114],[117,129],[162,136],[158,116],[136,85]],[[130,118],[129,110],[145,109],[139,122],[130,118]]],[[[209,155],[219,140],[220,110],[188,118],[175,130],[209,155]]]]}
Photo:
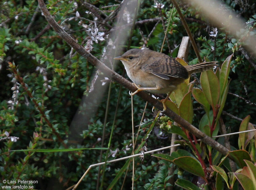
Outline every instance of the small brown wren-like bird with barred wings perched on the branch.
{"type": "Polygon", "coordinates": [[[139,91],[154,94],[168,93],[192,73],[212,69],[216,61],[182,66],[174,58],[147,48],[131,49],[114,59],[121,60],[127,75],[139,91]]]}

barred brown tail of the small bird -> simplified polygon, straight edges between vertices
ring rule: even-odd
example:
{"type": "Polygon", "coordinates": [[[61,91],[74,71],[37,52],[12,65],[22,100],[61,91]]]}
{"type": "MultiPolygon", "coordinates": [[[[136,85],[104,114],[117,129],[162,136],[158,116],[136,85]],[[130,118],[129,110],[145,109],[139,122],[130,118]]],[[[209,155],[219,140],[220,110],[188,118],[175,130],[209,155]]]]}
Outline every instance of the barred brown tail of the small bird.
{"type": "Polygon", "coordinates": [[[216,63],[218,61],[210,61],[210,62],[203,62],[198,63],[195,65],[188,65],[186,66],[186,69],[188,70],[188,74],[191,75],[192,73],[200,73],[205,70],[213,69],[213,67],[218,66],[216,63]]]}

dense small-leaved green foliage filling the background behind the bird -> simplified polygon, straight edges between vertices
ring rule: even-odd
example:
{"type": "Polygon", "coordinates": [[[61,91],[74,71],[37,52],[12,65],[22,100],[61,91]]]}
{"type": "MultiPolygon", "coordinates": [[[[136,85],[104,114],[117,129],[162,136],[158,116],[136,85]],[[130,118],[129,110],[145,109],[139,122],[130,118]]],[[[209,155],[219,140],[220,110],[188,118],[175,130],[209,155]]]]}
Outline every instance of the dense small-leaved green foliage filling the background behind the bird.
{"type": "MultiPolygon", "coordinates": [[[[112,42],[108,35],[115,27],[118,17],[116,10],[121,2],[48,0],[45,3],[55,20],[69,35],[95,57],[104,61],[106,47],[112,42]]],[[[164,43],[162,52],[168,55],[171,52],[171,56],[177,57],[182,36],[187,34],[176,9],[165,1],[156,3],[143,0],[140,3],[129,39],[131,45],[144,45],[160,51],[167,31],[168,40],[164,43]]],[[[222,3],[244,19],[248,35],[255,37],[255,3],[235,0],[226,0],[222,3]]],[[[256,123],[253,116],[256,111],[255,57],[244,49],[241,39],[235,39],[228,32],[211,25],[198,9],[185,3],[179,5],[196,40],[201,58],[217,60],[221,65],[233,54],[229,62],[229,78],[227,77],[227,80],[230,80],[229,90],[221,116],[227,131],[239,131],[241,126],[247,129],[248,125],[255,128],[255,125],[248,124],[249,119],[251,123],[256,123]],[[252,117],[247,117],[248,115],[252,117]],[[241,124],[243,119],[244,123],[241,124]]],[[[129,14],[126,13],[126,16],[128,19],[129,14]]],[[[131,155],[132,114],[128,90],[118,83],[105,79],[103,73],[96,71],[92,64],[71,49],[47,23],[37,1],[1,1],[0,18],[0,184],[3,185],[4,179],[37,180],[38,184],[34,184],[35,189],[66,189],[76,184],[91,164],[103,162],[105,157],[110,160],[131,155]],[[107,151],[103,150],[102,159],[101,150],[98,149],[69,152],[10,152],[19,149],[100,148],[102,145],[108,147],[112,126],[115,130],[111,138],[110,153],[106,155],[107,151]],[[102,144],[103,134],[105,140],[102,144]]],[[[130,31],[127,33],[130,34],[130,31]]],[[[118,44],[116,48],[127,50],[127,46],[120,47],[118,44]]],[[[188,62],[195,64],[197,61],[191,48],[188,62]]],[[[108,60],[109,62],[113,61],[108,60]]],[[[118,63],[116,72],[123,74],[121,63],[118,63]]],[[[127,78],[127,75],[124,74],[124,77],[127,78]]],[[[194,87],[201,88],[199,77],[199,74],[191,77],[191,81],[196,79],[194,87]]],[[[192,123],[199,126],[205,110],[196,100],[192,97],[192,123]]],[[[145,103],[138,96],[133,97],[136,133],[145,103]]],[[[141,143],[141,139],[146,143],[144,142],[144,146],[138,152],[170,145],[171,134],[166,126],[171,126],[172,120],[163,115],[160,119],[155,118],[156,114],[151,111],[152,106],[148,105],[142,121],[137,144],[141,143]],[[156,123],[153,122],[154,119],[156,123]],[[154,127],[152,131],[151,127],[154,127]]],[[[217,134],[220,134],[218,132],[217,134]]],[[[241,142],[239,144],[237,139],[238,135],[230,136],[231,149],[245,150],[246,146],[241,147],[241,142]]],[[[247,151],[252,156],[251,161],[255,162],[252,140],[253,138],[247,151]]],[[[223,139],[219,141],[224,144],[223,139]]],[[[184,146],[179,147],[181,151],[174,157],[178,158],[189,152],[189,156],[198,158],[190,147],[189,143],[184,143],[184,146]],[[183,149],[187,150],[186,153],[182,152],[183,149]]],[[[169,154],[168,151],[169,149],[166,149],[161,153],[169,154]]],[[[208,149],[202,151],[202,154],[207,154],[204,151],[207,152],[208,149]]],[[[220,157],[217,160],[219,159],[220,157]]],[[[208,167],[207,155],[204,155],[204,160],[208,167]]],[[[113,189],[121,189],[122,183],[124,189],[130,189],[132,164],[127,166],[126,179],[126,168],[119,180],[115,178],[119,171],[123,171],[124,163],[108,163],[103,179],[100,177],[103,166],[100,170],[98,167],[92,167],[78,188],[96,189],[102,182],[103,189],[107,189],[110,184],[114,184],[113,189]]],[[[214,164],[218,165],[219,162],[214,164]]],[[[165,189],[171,186],[171,176],[168,173],[171,166],[171,162],[159,161],[149,154],[145,154],[143,159],[136,157],[134,188],[165,189]]],[[[224,167],[223,169],[229,170],[224,167]]],[[[218,168],[215,168],[216,170],[218,168]]],[[[173,175],[175,180],[199,181],[191,173],[193,172],[189,173],[176,167],[173,175]]],[[[236,181],[236,186],[237,184],[236,181]]],[[[180,189],[178,186],[173,188],[180,189]]]]}

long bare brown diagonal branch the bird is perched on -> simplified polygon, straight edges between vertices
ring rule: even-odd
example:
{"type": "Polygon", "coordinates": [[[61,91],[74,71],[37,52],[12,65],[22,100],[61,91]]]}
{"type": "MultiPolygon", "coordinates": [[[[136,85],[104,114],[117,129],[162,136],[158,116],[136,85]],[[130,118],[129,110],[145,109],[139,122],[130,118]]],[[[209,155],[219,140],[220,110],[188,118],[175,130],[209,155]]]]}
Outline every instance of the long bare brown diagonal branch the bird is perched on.
{"type": "MultiPolygon", "coordinates": [[[[76,41],[71,36],[69,36],[62,28],[60,28],[57,22],[53,19],[50,12],[47,10],[43,0],[38,0],[38,3],[40,5],[42,12],[44,13],[45,19],[49,22],[49,24],[52,26],[55,32],[63,40],[65,40],[72,48],[74,48],[79,54],[81,54],[84,58],[86,58],[91,64],[93,64],[95,67],[100,69],[100,71],[102,71],[105,75],[107,75],[109,78],[111,78],[115,82],[122,84],[125,88],[127,88],[132,92],[137,90],[137,88],[131,82],[129,82],[127,79],[125,79],[124,77],[117,74],[115,71],[113,71],[109,67],[107,67],[104,63],[102,63],[99,59],[94,57],[91,53],[89,53],[88,51],[85,51],[85,49],[81,45],[77,44],[76,41]]],[[[139,92],[137,95],[140,96],[142,99],[148,101],[152,105],[154,105],[159,110],[163,109],[163,104],[158,100],[149,96],[146,92],[139,92]]],[[[166,109],[164,111],[164,114],[172,118],[175,122],[179,123],[182,127],[184,127],[186,130],[194,134],[197,138],[202,139],[202,141],[205,144],[212,146],[221,154],[225,154],[225,155],[228,154],[228,149],[226,147],[219,144],[217,141],[213,140],[206,134],[204,134],[202,131],[197,129],[192,124],[188,123],[186,120],[184,120],[179,115],[175,114],[170,109],[166,109]]]]}

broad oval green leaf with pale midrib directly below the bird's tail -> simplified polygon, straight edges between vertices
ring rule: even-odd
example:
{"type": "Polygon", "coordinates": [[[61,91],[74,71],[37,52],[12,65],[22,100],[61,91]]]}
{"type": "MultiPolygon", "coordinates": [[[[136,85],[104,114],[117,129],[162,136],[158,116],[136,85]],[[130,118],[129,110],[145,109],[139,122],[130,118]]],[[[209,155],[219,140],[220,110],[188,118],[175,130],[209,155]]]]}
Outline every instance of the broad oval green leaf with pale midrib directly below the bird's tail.
{"type": "Polygon", "coordinates": [[[204,71],[201,74],[200,82],[207,101],[212,108],[215,109],[220,98],[220,83],[218,77],[212,70],[204,71]]]}

